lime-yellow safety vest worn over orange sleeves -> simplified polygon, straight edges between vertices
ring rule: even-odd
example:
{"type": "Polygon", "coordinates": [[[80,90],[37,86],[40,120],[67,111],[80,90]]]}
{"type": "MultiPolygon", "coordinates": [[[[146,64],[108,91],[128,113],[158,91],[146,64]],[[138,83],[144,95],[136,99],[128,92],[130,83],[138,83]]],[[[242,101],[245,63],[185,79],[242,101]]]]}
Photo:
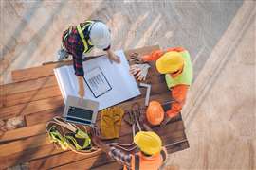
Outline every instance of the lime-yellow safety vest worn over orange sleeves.
{"type": "Polygon", "coordinates": [[[191,85],[192,84],[192,61],[188,51],[180,52],[185,59],[184,68],[180,75],[172,77],[170,74],[165,74],[165,80],[168,88],[172,88],[178,84],[191,85]]]}

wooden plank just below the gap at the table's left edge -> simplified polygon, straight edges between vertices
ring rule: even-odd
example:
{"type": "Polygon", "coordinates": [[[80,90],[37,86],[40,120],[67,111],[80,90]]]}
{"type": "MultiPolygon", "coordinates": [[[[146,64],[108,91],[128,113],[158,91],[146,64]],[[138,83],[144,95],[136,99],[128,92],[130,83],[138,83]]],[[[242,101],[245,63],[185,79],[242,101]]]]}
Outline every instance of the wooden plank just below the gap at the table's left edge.
{"type": "Polygon", "coordinates": [[[46,123],[37,124],[35,126],[30,127],[21,127],[14,130],[6,131],[4,134],[0,136],[0,144],[4,142],[21,140],[27,137],[39,135],[46,133],[46,123]]]}

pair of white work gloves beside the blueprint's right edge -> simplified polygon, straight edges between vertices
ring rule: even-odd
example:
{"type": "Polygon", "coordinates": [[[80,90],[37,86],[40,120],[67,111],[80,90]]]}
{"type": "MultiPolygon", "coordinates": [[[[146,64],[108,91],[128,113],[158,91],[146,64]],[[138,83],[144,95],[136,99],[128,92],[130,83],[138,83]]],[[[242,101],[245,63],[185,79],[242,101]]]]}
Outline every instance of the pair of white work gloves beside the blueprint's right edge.
{"type": "Polygon", "coordinates": [[[150,68],[150,65],[147,63],[144,64],[134,64],[130,67],[130,73],[134,76],[136,76],[138,81],[144,81],[146,80],[148,70],[150,68]]]}

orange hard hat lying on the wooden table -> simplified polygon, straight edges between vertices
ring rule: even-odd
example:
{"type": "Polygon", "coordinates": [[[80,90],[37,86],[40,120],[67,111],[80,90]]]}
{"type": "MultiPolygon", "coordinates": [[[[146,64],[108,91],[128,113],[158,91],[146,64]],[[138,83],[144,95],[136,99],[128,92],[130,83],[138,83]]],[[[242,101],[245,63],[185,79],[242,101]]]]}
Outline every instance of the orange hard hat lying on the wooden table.
{"type": "Polygon", "coordinates": [[[151,101],[146,111],[146,117],[150,124],[160,125],[164,119],[164,110],[161,104],[157,101],[151,101]]]}

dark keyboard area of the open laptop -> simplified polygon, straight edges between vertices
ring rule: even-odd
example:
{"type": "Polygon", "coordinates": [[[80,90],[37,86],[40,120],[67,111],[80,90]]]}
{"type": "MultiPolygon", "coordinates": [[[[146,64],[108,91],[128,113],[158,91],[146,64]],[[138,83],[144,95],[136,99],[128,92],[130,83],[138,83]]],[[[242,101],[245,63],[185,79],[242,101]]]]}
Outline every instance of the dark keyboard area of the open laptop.
{"type": "Polygon", "coordinates": [[[67,116],[77,117],[80,119],[86,119],[91,121],[93,116],[93,111],[70,106],[67,111],[67,116]]]}

